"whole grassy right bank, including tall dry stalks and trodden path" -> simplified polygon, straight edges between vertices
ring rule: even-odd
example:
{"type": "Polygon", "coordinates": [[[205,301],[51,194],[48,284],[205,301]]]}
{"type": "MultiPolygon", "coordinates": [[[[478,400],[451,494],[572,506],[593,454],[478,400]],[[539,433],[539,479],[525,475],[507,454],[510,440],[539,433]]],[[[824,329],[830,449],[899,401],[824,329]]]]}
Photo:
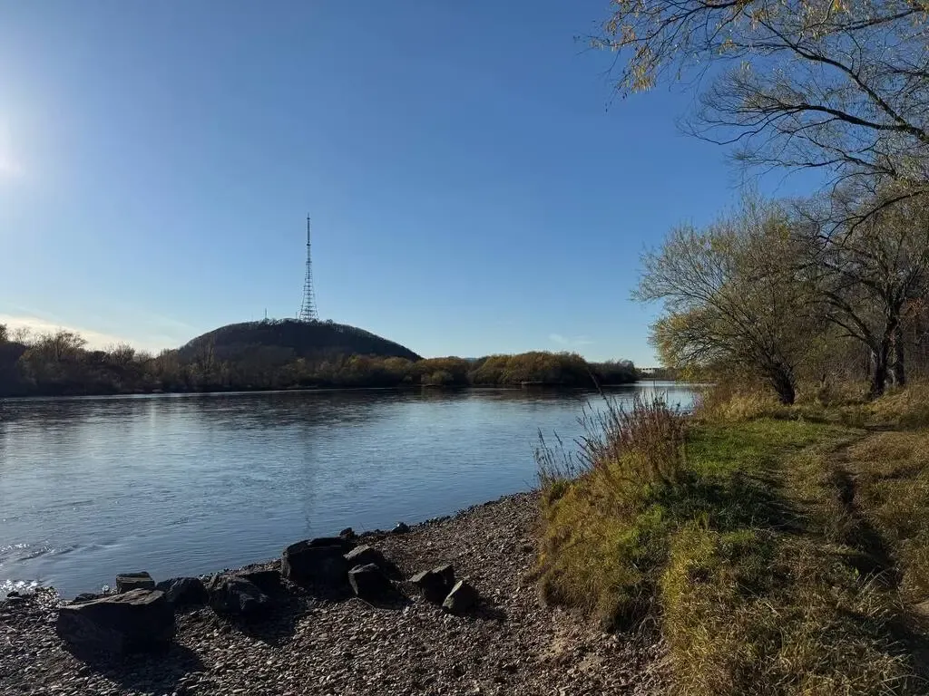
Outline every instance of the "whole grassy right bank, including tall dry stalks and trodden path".
{"type": "Polygon", "coordinates": [[[560,475],[541,449],[544,597],[654,626],[680,693],[929,692],[908,643],[909,604],[929,599],[929,432],[869,434],[843,406],[720,406],[689,424],[661,405],[608,416],[619,430],[588,432],[560,475]],[[673,453],[659,432],[683,433],[673,453]],[[642,466],[658,452],[673,476],[642,466]]]}

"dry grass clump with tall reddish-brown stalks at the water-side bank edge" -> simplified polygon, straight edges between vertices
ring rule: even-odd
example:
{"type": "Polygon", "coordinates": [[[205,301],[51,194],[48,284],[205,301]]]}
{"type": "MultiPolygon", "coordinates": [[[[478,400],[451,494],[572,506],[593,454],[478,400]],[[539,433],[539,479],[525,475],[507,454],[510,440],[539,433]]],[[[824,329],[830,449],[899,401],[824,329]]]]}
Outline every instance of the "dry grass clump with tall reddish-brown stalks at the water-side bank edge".
{"type": "Polygon", "coordinates": [[[546,521],[540,573],[549,601],[626,625],[653,604],[667,535],[663,500],[685,468],[685,419],[658,399],[604,406],[584,411],[584,434],[573,452],[540,436],[546,521]]]}

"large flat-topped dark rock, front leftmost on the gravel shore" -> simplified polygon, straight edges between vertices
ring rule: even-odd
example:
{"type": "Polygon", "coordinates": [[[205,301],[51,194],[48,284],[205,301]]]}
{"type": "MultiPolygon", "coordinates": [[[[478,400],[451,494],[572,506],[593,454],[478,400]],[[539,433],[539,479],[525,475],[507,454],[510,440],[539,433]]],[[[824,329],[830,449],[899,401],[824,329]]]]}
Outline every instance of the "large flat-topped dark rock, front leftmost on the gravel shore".
{"type": "Polygon", "coordinates": [[[56,631],[78,652],[147,651],[174,638],[175,616],[164,592],[133,589],[60,607],[56,631]]]}

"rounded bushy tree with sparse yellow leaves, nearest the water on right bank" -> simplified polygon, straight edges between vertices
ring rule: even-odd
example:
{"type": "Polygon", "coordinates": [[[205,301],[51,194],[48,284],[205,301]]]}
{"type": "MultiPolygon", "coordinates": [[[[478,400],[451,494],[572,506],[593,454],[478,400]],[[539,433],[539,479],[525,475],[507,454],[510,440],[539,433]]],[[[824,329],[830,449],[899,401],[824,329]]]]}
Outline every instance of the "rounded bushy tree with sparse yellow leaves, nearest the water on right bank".
{"type": "Polygon", "coordinates": [[[788,222],[778,205],[747,200],[706,229],[675,229],[644,256],[634,296],[664,302],[652,340],[669,367],[748,370],[793,403],[817,319],[793,270],[788,222]]]}

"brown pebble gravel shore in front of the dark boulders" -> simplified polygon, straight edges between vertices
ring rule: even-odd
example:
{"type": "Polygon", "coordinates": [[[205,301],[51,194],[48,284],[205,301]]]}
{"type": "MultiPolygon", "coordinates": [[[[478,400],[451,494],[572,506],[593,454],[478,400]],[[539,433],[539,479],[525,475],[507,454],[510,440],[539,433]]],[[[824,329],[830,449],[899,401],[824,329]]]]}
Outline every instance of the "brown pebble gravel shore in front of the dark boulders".
{"type": "Polygon", "coordinates": [[[404,535],[372,535],[405,577],[452,563],[483,603],[469,616],[414,592],[372,606],[296,593],[253,627],[202,608],[177,615],[170,651],[85,663],[55,633],[59,598],[42,590],[0,603],[0,693],[155,694],[661,694],[661,647],[610,636],[544,607],[532,494],[500,500],[404,535]]]}

